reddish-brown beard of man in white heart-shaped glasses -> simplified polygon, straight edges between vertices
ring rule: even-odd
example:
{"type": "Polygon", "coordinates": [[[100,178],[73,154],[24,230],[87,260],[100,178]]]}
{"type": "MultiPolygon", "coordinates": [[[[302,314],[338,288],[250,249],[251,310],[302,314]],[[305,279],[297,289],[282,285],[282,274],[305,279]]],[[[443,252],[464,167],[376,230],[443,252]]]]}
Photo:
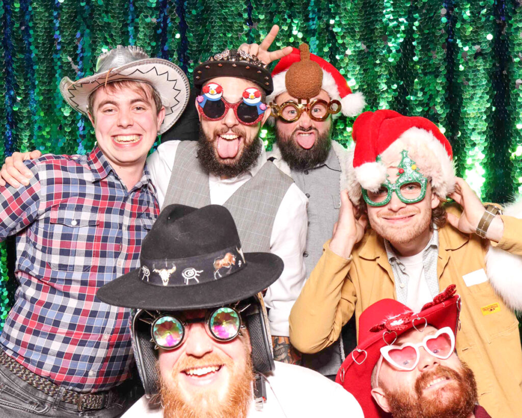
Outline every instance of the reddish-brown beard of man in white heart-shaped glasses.
{"type": "Polygon", "coordinates": [[[471,369],[462,363],[462,369],[438,366],[432,372],[423,373],[415,383],[415,394],[406,391],[392,391],[385,388],[390,413],[394,418],[468,418],[477,403],[477,383],[471,369]],[[448,376],[454,379],[451,384],[452,396],[422,396],[423,388],[434,377],[448,376]]]}

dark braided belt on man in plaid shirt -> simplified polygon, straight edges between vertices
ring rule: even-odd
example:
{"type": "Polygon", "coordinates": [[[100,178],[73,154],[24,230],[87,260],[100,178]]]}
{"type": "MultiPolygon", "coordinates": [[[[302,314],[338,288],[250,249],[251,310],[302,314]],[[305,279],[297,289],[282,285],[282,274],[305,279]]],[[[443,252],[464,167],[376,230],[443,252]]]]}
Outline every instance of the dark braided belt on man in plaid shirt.
{"type": "MultiPolygon", "coordinates": [[[[0,350],[0,364],[7,368],[15,376],[19,377],[25,383],[37,388],[39,391],[52,397],[58,396],[61,386],[55,385],[51,380],[39,376],[22,366],[16,360],[11,359],[3,350],[0,350]]],[[[110,390],[98,393],[79,393],[74,390],[63,390],[63,402],[78,405],[78,411],[87,411],[91,409],[102,409],[109,403],[110,390]]]]}

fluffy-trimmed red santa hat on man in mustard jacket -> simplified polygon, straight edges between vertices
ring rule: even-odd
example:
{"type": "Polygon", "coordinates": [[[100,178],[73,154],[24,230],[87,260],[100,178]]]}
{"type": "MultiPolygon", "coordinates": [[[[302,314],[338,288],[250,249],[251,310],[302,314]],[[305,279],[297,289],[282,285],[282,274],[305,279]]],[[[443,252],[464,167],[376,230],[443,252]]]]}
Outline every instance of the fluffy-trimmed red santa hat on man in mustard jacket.
{"type": "Polygon", "coordinates": [[[349,163],[345,186],[353,204],[361,198],[361,187],[378,190],[386,181],[387,168],[400,163],[402,150],[407,150],[419,171],[431,179],[438,197],[444,200],[453,192],[452,147],[428,119],[403,116],[393,110],[364,112],[353,123],[352,138],[353,164],[349,163]]]}

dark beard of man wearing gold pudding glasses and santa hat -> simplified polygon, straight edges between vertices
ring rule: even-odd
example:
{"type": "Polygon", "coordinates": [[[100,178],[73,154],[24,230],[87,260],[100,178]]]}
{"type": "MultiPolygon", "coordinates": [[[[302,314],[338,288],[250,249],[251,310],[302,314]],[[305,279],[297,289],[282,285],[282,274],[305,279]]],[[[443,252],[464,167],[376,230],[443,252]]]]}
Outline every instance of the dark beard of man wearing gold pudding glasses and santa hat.
{"type": "Polygon", "coordinates": [[[277,146],[281,150],[283,160],[289,165],[292,170],[304,171],[311,169],[318,164],[323,164],[328,157],[328,152],[331,147],[331,130],[332,127],[319,135],[316,128],[302,129],[303,132],[315,130],[317,136],[315,144],[310,149],[304,149],[295,140],[297,129],[292,132],[289,138],[284,138],[279,130],[276,132],[277,146]]]}

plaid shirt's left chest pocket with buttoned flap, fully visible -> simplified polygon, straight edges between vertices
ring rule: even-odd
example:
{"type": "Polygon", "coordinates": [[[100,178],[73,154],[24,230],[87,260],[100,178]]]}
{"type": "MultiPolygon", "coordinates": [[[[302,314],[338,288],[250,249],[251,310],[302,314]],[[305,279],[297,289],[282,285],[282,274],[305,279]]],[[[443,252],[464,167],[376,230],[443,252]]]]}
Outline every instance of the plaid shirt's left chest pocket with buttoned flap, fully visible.
{"type": "Polygon", "coordinates": [[[92,243],[99,225],[98,214],[71,210],[66,205],[51,208],[46,230],[46,253],[53,270],[85,272],[91,269],[92,243]]]}

